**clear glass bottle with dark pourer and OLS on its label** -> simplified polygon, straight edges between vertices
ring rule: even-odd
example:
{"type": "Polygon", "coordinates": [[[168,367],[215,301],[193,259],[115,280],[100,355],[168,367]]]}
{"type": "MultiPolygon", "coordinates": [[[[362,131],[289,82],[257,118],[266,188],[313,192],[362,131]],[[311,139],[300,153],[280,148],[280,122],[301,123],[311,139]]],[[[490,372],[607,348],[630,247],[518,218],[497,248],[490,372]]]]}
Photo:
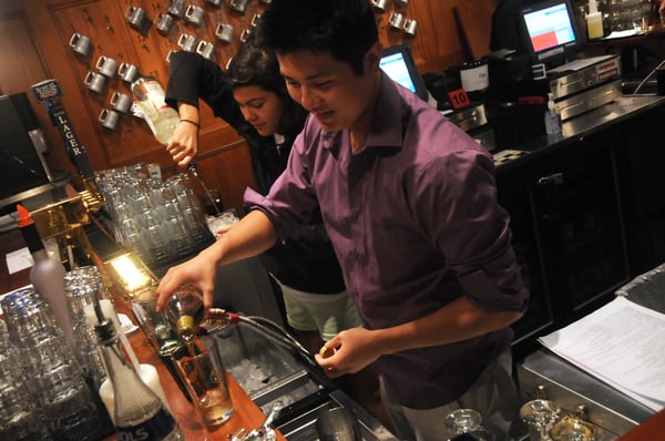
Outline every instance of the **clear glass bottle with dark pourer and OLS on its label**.
{"type": "Polygon", "coordinates": [[[121,440],[182,441],[177,422],[160,399],[139,377],[125,358],[113,320],[96,311],[94,329],[113,386],[113,423],[121,440]]]}

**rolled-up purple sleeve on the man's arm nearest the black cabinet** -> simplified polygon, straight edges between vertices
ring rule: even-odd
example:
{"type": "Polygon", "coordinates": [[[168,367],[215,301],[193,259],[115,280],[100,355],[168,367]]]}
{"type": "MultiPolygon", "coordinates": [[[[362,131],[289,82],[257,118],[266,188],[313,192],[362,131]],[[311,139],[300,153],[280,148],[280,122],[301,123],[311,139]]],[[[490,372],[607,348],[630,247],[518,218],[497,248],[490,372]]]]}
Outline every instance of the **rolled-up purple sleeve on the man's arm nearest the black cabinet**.
{"type": "Polygon", "coordinates": [[[523,311],[529,290],[511,245],[510,217],[497,202],[491,156],[461,150],[429,164],[440,168],[420,194],[420,209],[463,294],[479,308],[523,311]],[[434,207],[433,211],[431,207],[434,207]]]}

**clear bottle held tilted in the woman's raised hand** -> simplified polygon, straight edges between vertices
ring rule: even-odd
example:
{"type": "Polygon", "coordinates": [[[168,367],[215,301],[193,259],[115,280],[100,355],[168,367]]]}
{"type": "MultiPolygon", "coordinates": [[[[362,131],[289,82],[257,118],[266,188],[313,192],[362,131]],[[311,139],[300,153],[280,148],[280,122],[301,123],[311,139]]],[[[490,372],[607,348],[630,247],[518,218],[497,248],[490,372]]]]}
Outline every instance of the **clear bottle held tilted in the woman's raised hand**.
{"type": "Polygon", "coordinates": [[[134,115],[145,120],[160,143],[168,144],[180,123],[180,115],[166,104],[162,84],[153,76],[141,76],[132,83],[132,93],[134,115]]]}

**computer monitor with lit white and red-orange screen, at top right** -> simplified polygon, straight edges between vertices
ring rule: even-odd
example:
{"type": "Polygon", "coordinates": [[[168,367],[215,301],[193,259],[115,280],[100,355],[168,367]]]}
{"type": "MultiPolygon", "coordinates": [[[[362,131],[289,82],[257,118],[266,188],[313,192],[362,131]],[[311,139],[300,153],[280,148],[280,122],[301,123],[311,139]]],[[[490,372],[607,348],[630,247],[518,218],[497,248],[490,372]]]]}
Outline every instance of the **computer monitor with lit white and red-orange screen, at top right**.
{"type": "Polygon", "coordinates": [[[534,63],[556,65],[585,43],[570,0],[536,1],[519,11],[523,49],[534,63]]]}

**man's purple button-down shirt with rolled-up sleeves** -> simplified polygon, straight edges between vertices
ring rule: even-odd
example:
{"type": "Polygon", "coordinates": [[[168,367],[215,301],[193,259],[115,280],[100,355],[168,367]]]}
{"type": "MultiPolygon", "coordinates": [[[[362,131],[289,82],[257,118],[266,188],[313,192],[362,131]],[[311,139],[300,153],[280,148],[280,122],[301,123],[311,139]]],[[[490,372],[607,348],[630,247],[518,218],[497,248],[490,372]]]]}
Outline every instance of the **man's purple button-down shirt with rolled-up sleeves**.
{"type": "MultiPolygon", "coordinates": [[[[320,204],[368,329],[421,318],[460,296],[487,310],[526,307],[492,156],[386,75],[360,152],[351,153],[348,131],[327,132],[309,117],[268,196],[246,198],[279,237],[320,204]]],[[[511,338],[507,328],[378,365],[392,400],[428,409],[462,394],[511,338]]]]}

